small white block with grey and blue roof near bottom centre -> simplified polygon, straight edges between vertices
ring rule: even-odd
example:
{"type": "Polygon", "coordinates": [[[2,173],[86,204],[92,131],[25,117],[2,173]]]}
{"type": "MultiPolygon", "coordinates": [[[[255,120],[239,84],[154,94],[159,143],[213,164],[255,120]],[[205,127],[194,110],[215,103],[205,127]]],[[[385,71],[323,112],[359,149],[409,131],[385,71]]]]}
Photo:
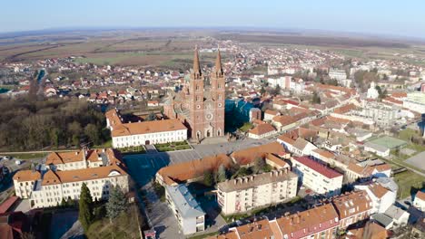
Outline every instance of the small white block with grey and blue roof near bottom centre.
{"type": "Polygon", "coordinates": [[[165,186],[165,198],[173,211],[183,234],[205,230],[205,213],[193,198],[187,186],[165,186]]]}

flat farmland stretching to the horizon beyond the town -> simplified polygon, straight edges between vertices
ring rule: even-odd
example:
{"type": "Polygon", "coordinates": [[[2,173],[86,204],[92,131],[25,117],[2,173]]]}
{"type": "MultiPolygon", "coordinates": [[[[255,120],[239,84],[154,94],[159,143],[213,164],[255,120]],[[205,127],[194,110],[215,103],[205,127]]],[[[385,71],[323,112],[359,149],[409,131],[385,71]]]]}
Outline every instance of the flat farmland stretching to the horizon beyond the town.
{"type": "MultiPolygon", "coordinates": [[[[366,37],[313,36],[301,33],[229,33],[207,30],[152,30],[152,31],[79,31],[45,35],[0,37],[0,62],[30,62],[46,58],[84,56],[77,62],[165,66],[182,68],[192,57],[196,44],[215,47],[213,37],[269,47],[320,49],[341,53],[347,57],[396,59],[412,64],[425,64],[401,57],[415,54],[425,57],[425,44],[400,43],[366,37]],[[179,61],[183,60],[182,63],[179,61]]],[[[208,54],[202,61],[213,62],[208,54]]]]}

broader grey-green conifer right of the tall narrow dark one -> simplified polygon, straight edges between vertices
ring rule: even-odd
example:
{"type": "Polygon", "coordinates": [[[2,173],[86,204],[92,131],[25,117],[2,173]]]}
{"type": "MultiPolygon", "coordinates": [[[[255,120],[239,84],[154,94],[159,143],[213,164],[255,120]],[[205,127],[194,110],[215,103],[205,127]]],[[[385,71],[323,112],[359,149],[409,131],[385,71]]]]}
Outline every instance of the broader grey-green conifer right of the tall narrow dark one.
{"type": "Polygon", "coordinates": [[[127,200],[120,186],[113,186],[106,203],[106,215],[110,222],[127,209],[127,200]]]}

